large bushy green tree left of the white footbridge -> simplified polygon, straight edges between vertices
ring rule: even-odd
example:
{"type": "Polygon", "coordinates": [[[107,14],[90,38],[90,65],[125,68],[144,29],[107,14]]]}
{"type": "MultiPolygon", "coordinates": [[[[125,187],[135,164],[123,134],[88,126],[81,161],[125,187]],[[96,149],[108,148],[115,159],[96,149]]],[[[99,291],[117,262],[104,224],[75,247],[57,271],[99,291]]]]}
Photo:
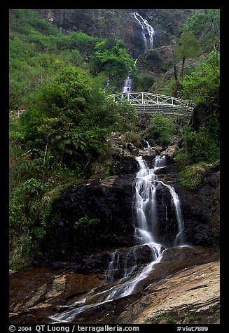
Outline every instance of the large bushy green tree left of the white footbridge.
{"type": "Polygon", "coordinates": [[[133,123],[133,108],[106,99],[94,81],[88,71],[67,66],[31,97],[20,122],[27,150],[35,149],[43,163],[52,155],[53,164],[83,172],[109,148],[110,132],[133,123]]]}

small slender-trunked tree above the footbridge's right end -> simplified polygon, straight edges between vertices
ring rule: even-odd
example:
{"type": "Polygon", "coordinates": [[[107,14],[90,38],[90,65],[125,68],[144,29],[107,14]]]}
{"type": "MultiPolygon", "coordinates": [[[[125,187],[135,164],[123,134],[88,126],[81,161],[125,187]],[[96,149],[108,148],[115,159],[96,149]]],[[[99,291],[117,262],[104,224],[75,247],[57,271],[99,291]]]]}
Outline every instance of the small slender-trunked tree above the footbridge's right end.
{"type": "Polygon", "coordinates": [[[191,32],[183,32],[176,45],[176,57],[182,60],[181,77],[183,77],[184,64],[187,58],[195,58],[200,54],[200,43],[191,32]]]}

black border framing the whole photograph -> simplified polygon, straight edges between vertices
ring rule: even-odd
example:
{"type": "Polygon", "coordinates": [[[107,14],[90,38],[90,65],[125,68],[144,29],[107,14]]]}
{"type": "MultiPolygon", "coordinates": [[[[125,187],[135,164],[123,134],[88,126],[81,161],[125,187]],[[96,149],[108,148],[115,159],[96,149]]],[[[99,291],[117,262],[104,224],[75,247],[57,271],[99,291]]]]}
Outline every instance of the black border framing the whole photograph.
{"type": "MultiPolygon", "coordinates": [[[[227,225],[228,225],[228,218],[226,215],[226,206],[228,205],[228,187],[226,183],[226,178],[228,176],[228,168],[226,165],[227,162],[227,153],[228,153],[228,137],[225,135],[228,131],[228,106],[227,106],[227,92],[225,91],[227,86],[227,73],[226,70],[228,69],[228,50],[227,50],[227,44],[228,44],[228,24],[227,24],[227,16],[228,10],[226,8],[226,1],[188,1],[186,3],[183,3],[183,1],[176,1],[176,2],[169,2],[169,3],[152,3],[152,2],[146,2],[146,3],[123,3],[123,1],[114,1],[113,3],[107,1],[96,1],[93,3],[83,3],[83,1],[79,1],[78,3],[72,3],[72,1],[69,1],[69,4],[64,2],[54,2],[52,1],[39,1],[36,3],[32,3],[31,1],[8,1],[7,4],[1,5],[1,32],[4,32],[4,34],[1,34],[1,324],[6,325],[6,332],[8,331],[8,304],[9,304],[9,297],[8,297],[8,164],[9,164],[9,152],[8,152],[8,10],[11,8],[31,8],[32,6],[34,8],[62,8],[63,6],[60,6],[60,4],[64,4],[64,8],[72,8],[73,4],[77,8],[87,8],[88,9],[93,6],[94,8],[120,8],[125,9],[127,8],[127,5],[139,5],[141,7],[144,6],[144,9],[149,8],[153,6],[153,8],[171,8],[173,6],[174,8],[183,8],[183,6],[193,7],[193,8],[219,8],[221,9],[221,324],[220,325],[206,325],[209,328],[209,332],[224,332],[223,328],[226,323],[226,306],[227,306],[227,299],[225,296],[225,288],[227,283],[227,274],[225,272],[225,269],[227,267],[226,265],[226,257],[227,257],[227,251],[228,247],[225,243],[227,241],[226,237],[228,236],[227,232],[227,225]],[[68,4],[68,6],[67,6],[68,4]],[[96,7],[94,6],[96,4],[96,7]],[[4,6],[7,5],[7,8],[4,6]],[[86,6],[85,6],[86,5],[86,6]],[[91,6],[90,6],[91,5],[91,6]],[[112,6],[111,6],[112,5],[112,6]],[[125,5],[125,6],[124,6],[125,5]],[[160,7],[158,6],[160,5],[160,7]],[[124,8],[123,8],[124,6],[124,8]]],[[[93,9],[93,8],[92,8],[93,9]]],[[[41,323],[42,324],[42,323],[41,323]]],[[[167,325],[160,324],[160,327],[162,330],[165,329],[167,325]]],[[[184,325],[181,325],[184,326],[184,325]]],[[[186,326],[193,326],[193,325],[186,325],[186,326]]],[[[140,325],[140,331],[144,332],[145,328],[147,329],[149,325],[140,325]]],[[[154,326],[156,328],[155,332],[158,332],[157,328],[158,326],[154,326]]],[[[169,325],[169,330],[167,332],[176,332],[177,325],[169,325]]],[[[2,332],[5,330],[3,329],[2,332]]],[[[35,331],[34,331],[35,332],[35,331]]],[[[45,332],[45,331],[44,331],[45,332]]]]}

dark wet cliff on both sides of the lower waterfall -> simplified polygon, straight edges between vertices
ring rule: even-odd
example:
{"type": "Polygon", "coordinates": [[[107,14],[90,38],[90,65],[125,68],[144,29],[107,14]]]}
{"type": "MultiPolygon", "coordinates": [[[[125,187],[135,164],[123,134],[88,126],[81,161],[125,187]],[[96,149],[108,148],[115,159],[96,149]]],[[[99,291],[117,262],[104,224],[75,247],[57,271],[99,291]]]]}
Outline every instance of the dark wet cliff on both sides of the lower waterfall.
{"type": "MultiPolygon", "coordinates": [[[[144,158],[152,167],[153,156],[144,158]]],[[[109,263],[111,250],[134,246],[133,184],[137,169],[134,157],[116,157],[113,176],[104,180],[86,180],[65,190],[54,207],[55,213],[60,214],[59,221],[50,227],[41,244],[45,254],[43,260],[54,267],[72,267],[74,264],[78,272],[102,272],[109,263]],[[75,223],[81,218],[96,219],[98,223],[90,225],[90,232],[76,229],[75,223]]],[[[188,190],[179,185],[178,172],[167,156],[167,168],[160,170],[158,180],[172,185],[179,195],[184,243],[190,246],[218,245],[219,172],[207,176],[197,190],[188,190]]],[[[156,196],[158,239],[165,247],[171,247],[177,233],[171,196],[166,187],[159,187],[156,196]]]]}

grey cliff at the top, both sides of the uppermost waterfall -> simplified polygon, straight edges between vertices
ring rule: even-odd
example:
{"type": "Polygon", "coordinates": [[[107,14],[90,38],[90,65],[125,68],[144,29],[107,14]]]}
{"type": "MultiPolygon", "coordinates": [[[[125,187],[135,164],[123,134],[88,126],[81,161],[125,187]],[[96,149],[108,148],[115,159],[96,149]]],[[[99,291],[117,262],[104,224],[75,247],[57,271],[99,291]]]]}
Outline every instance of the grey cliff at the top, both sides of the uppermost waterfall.
{"type": "Polygon", "coordinates": [[[141,27],[132,14],[137,11],[155,29],[154,48],[174,44],[179,27],[190,9],[36,9],[63,33],[81,30],[90,36],[122,38],[134,58],[144,52],[141,27]]]}

